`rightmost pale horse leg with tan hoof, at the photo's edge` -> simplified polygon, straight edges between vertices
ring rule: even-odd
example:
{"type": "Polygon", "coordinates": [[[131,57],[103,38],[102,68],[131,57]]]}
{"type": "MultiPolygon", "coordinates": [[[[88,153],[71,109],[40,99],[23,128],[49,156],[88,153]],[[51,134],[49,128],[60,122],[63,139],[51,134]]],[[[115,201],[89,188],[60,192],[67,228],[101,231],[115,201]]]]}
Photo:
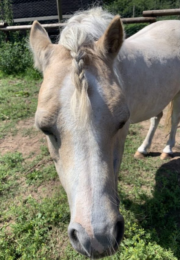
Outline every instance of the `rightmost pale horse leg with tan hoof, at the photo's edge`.
{"type": "Polygon", "coordinates": [[[171,114],[171,131],[166,147],[160,155],[161,159],[171,158],[173,155],[172,148],[175,146],[175,135],[180,121],[180,92],[173,99],[173,111],[171,114]]]}

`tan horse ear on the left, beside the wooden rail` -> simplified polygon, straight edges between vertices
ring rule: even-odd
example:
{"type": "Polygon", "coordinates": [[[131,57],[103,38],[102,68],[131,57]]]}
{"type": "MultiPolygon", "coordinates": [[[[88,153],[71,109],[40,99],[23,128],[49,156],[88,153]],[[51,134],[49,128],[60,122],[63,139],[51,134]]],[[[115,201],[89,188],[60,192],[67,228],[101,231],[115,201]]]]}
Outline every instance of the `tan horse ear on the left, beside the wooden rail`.
{"type": "Polygon", "coordinates": [[[30,46],[34,54],[34,66],[43,71],[52,52],[48,33],[38,21],[34,21],[30,33],[30,46]]]}

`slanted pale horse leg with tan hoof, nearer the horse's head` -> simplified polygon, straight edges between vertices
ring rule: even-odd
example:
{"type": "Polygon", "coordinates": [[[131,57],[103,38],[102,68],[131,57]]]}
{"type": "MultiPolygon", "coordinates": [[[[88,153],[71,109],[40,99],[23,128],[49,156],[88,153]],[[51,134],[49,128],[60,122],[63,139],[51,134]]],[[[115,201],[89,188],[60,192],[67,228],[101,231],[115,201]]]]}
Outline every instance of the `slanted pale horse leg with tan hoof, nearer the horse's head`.
{"type": "Polygon", "coordinates": [[[143,141],[141,146],[136,151],[136,153],[134,155],[135,158],[144,158],[144,156],[147,154],[147,149],[150,148],[150,146],[151,146],[154,133],[157,129],[157,126],[158,126],[159,121],[162,116],[163,116],[163,112],[160,112],[157,116],[151,117],[151,119],[150,119],[151,124],[149,127],[149,131],[146,135],[145,140],[143,141]]]}

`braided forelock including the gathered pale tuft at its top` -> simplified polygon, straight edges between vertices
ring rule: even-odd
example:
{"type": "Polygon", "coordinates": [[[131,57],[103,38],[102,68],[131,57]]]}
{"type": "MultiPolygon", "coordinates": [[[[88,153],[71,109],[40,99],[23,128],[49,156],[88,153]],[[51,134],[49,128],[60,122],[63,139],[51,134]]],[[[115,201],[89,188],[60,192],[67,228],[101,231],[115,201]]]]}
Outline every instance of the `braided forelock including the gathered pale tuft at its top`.
{"type": "Polygon", "coordinates": [[[62,45],[70,50],[72,60],[72,81],[75,86],[71,98],[71,110],[74,116],[84,122],[90,116],[91,103],[88,97],[88,81],[85,77],[85,58],[87,53],[85,48],[92,44],[93,40],[78,26],[73,26],[66,30],[61,38],[62,45]]]}

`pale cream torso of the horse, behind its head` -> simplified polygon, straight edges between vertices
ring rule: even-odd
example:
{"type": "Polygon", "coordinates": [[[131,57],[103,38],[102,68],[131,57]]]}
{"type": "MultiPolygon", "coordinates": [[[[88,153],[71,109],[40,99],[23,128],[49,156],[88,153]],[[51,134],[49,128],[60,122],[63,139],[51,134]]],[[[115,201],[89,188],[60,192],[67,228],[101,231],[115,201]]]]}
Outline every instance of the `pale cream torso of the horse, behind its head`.
{"type": "Polygon", "coordinates": [[[153,23],[124,41],[118,73],[130,120],[157,116],[180,91],[180,21],[153,23]]]}

